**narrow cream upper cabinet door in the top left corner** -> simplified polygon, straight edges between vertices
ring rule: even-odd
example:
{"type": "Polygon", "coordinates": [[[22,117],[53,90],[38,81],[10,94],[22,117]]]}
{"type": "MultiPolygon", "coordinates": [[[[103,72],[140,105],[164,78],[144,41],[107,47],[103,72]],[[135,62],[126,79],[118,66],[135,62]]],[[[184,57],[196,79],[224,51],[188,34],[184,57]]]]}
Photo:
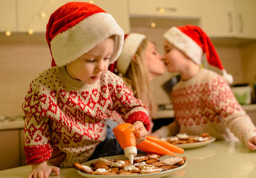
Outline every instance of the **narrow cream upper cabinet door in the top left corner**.
{"type": "Polygon", "coordinates": [[[17,31],[15,0],[0,0],[0,31],[17,31]]]}

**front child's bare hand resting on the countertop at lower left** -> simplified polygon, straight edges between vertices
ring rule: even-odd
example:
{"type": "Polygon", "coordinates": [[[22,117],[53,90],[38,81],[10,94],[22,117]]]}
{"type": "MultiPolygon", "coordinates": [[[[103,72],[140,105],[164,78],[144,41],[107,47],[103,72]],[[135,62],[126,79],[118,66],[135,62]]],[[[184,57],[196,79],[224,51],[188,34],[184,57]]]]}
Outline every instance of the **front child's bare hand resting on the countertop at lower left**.
{"type": "Polygon", "coordinates": [[[46,161],[32,165],[31,173],[28,178],[48,178],[49,175],[55,172],[60,175],[60,168],[47,165],[46,161]]]}

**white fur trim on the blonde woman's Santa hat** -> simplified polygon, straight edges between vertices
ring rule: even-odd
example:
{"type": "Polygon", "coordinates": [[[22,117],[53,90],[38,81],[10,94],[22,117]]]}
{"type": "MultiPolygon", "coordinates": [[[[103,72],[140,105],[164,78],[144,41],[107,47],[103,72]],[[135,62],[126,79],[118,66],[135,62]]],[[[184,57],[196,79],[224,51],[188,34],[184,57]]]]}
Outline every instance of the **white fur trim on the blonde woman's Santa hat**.
{"type": "Polygon", "coordinates": [[[126,73],[131,63],[132,56],[140,47],[141,42],[146,38],[145,35],[139,33],[130,33],[124,40],[124,47],[120,57],[116,61],[117,70],[123,75],[126,73]]]}

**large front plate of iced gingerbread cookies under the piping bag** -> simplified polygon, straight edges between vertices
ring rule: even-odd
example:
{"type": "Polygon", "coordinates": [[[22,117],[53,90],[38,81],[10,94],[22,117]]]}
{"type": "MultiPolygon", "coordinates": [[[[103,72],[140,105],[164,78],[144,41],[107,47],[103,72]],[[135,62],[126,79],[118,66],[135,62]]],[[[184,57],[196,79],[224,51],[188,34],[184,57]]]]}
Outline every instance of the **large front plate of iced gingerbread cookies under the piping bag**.
{"type": "Polygon", "coordinates": [[[84,177],[164,177],[174,174],[186,167],[184,157],[159,154],[138,154],[134,163],[122,155],[108,156],[87,161],[83,164],[74,163],[78,174],[84,177]]]}

